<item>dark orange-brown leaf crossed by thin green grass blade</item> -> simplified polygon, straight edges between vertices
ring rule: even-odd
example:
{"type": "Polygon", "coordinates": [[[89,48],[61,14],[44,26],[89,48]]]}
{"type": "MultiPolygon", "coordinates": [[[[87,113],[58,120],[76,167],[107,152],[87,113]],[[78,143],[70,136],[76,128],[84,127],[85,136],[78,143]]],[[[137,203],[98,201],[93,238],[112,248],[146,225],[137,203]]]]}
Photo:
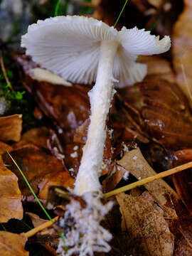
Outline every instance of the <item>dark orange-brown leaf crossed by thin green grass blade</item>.
{"type": "MultiPolygon", "coordinates": [[[[21,149],[10,152],[18,166],[22,169],[29,183],[38,197],[46,199],[48,187],[53,185],[73,187],[74,179],[54,156],[33,145],[26,145],[21,149]]],[[[4,163],[18,176],[18,186],[24,196],[31,196],[26,182],[7,154],[3,155],[4,163]]]]}

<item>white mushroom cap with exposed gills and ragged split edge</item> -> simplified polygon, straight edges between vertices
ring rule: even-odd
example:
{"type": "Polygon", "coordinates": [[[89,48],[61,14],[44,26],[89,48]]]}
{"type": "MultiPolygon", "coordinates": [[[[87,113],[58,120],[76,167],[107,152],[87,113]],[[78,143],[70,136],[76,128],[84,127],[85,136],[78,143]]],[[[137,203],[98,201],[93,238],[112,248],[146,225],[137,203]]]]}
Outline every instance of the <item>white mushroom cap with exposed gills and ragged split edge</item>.
{"type": "Polygon", "coordinates": [[[169,36],[159,40],[149,31],[116,28],[85,16],[57,16],[28,26],[21,46],[33,60],[66,80],[78,83],[95,82],[102,41],[117,41],[114,58],[114,78],[117,87],[140,82],[146,75],[146,65],[136,63],[138,55],[164,53],[169,50],[169,36]]]}

